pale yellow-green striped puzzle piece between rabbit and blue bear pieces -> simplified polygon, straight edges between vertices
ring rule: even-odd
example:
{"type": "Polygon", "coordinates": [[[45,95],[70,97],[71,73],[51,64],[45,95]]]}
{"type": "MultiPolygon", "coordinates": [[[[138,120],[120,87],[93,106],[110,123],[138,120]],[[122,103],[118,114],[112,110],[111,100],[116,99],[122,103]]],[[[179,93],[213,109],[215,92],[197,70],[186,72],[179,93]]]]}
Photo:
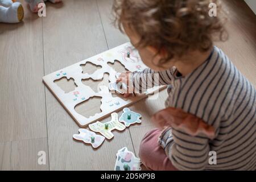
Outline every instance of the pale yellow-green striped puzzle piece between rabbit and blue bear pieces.
{"type": "Polygon", "coordinates": [[[101,122],[97,121],[95,123],[90,124],[89,129],[94,132],[101,133],[107,139],[112,139],[114,137],[114,135],[111,131],[112,130],[123,131],[123,130],[125,130],[125,125],[123,125],[122,123],[120,123],[118,121],[117,113],[112,113],[111,121],[106,122],[106,123],[101,123],[101,122]]]}

